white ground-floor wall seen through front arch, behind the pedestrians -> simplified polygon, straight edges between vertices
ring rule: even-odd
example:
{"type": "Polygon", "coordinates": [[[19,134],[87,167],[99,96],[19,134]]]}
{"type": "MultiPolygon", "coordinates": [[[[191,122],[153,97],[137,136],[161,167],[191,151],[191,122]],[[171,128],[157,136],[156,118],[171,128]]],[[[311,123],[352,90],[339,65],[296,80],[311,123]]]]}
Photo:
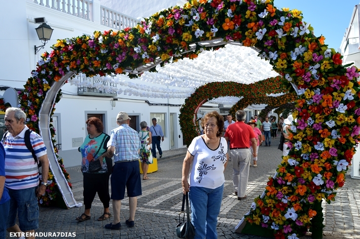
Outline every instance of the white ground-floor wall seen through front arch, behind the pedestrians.
{"type": "MultiPolygon", "coordinates": [[[[146,121],[149,126],[151,126],[150,113],[156,112],[168,114],[167,106],[149,106],[148,103],[144,101],[118,99],[118,101],[115,102],[115,106],[112,107],[110,104],[111,99],[112,98],[72,96],[64,94],[61,101],[55,105],[55,113],[57,113],[59,122],[61,122],[58,131],[60,130],[62,133],[61,139],[59,140],[60,142],[58,142],[62,144],[59,154],[63,157],[65,166],[72,167],[80,164],[81,156],[77,152],[78,146],[72,147],[72,138],[85,138],[87,136],[85,124],[87,119],[86,112],[91,111],[91,113],[99,112],[105,114],[103,120],[107,134],[110,134],[111,130],[117,127],[115,122],[116,115],[119,111],[139,115],[138,123],[146,121]]],[[[169,111],[169,113],[176,113],[177,117],[179,117],[180,107],[171,106],[169,107],[169,111]]],[[[166,127],[167,135],[164,137],[164,142],[161,146],[163,150],[170,149],[169,123],[166,123],[166,127]]],[[[174,128],[175,147],[183,147],[179,123],[174,125],[174,128]]]]}

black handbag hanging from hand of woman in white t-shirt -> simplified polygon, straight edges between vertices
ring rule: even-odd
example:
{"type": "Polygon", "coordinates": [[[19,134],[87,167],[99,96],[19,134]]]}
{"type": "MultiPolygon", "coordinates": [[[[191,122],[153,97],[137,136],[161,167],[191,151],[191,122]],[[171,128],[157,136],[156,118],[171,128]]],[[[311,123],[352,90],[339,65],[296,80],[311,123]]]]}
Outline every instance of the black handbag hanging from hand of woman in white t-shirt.
{"type": "Polygon", "coordinates": [[[176,226],[176,235],[178,238],[185,238],[185,239],[193,239],[195,237],[195,228],[190,221],[190,213],[189,213],[189,199],[188,193],[183,195],[182,197],[182,206],[181,211],[179,213],[179,224],[176,226]],[[185,221],[185,212],[184,212],[184,205],[185,205],[185,198],[186,198],[186,221],[185,221]],[[182,220],[180,215],[182,216],[182,220]]]}

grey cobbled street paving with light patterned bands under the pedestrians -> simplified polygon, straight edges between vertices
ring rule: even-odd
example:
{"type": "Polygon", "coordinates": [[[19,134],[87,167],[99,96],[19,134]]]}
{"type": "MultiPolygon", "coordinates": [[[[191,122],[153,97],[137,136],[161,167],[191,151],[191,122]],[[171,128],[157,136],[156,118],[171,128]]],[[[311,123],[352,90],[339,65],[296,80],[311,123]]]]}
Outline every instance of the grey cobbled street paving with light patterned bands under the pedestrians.
{"type": "MultiPolygon", "coordinates": [[[[238,201],[233,193],[232,166],[225,170],[225,187],[218,217],[219,239],[264,239],[252,235],[235,233],[234,227],[249,211],[253,199],[260,195],[267,182],[281,162],[282,152],[277,149],[279,138],[272,139],[271,147],[259,147],[258,167],[250,169],[248,199],[238,201]]],[[[91,210],[91,219],[84,222],[74,220],[84,212],[84,207],[68,210],[55,207],[40,207],[37,233],[76,233],[76,239],[175,239],[176,219],[181,207],[181,168],[186,148],[164,151],[158,159],[158,171],[148,174],[149,180],[142,180],[143,195],[138,197],[135,227],[128,228],[125,220],[129,216],[128,198],[122,200],[119,231],[104,229],[112,221],[97,221],[103,213],[103,206],[96,196],[91,210]]],[[[72,192],[77,202],[83,202],[82,176],[77,167],[69,168],[72,178],[72,192]],[[77,179],[76,179],[77,178],[77,179]]],[[[346,183],[339,189],[335,202],[324,207],[324,239],[360,239],[360,181],[351,179],[350,171],[346,183]]],[[[110,202],[110,212],[112,205],[110,202]]],[[[9,235],[9,234],[8,234],[9,235]]],[[[10,238],[10,237],[8,237],[10,238]]],[[[45,237],[43,237],[45,238],[45,237]]],[[[61,237],[46,237],[61,238],[61,237]]],[[[65,238],[65,237],[64,237],[65,238]]],[[[301,239],[310,239],[302,237],[301,239]]]]}

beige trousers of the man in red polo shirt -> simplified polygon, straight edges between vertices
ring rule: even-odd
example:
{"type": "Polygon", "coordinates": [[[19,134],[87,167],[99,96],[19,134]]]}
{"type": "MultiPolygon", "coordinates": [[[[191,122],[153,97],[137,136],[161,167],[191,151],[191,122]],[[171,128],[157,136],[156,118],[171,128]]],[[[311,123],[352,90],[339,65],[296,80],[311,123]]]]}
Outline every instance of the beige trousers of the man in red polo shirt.
{"type": "Polygon", "coordinates": [[[243,198],[246,195],[248,187],[250,170],[250,150],[249,149],[230,149],[230,157],[233,169],[233,186],[238,197],[243,198]]]}

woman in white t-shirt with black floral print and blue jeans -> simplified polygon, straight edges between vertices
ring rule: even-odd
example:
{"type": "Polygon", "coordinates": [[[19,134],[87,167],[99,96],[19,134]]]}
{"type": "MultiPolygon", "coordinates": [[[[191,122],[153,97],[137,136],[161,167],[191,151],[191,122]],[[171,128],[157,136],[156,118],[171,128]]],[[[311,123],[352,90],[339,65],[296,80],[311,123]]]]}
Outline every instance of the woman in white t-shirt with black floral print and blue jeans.
{"type": "Polygon", "coordinates": [[[201,126],[205,134],[195,137],[189,145],[182,164],[181,181],[183,193],[189,192],[194,239],[213,239],[217,238],[217,216],[228,160],[227,143],[221,137],[223,118],[216,111],[207,113],[201,120],[201,126]]]}

